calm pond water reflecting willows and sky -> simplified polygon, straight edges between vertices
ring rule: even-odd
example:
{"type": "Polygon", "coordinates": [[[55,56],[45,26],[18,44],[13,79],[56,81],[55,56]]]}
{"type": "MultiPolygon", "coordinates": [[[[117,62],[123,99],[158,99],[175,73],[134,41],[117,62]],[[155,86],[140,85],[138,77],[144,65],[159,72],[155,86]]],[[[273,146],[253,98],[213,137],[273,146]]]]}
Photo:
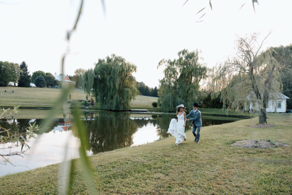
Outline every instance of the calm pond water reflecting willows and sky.
{"type": "MultiPolygon", "coordinates": [[[[176,116],[174,114],[97,111],[84,112],[81,118],[84,120],[85,131],[89,140],[87,155],[93,155],[119,148],[147,144],[170,137],[170,134],[167,133],[169,122],[176,116]]],[[[6,129],[10,128],[10,131],[14,134],[23,132],[25,137],[26,127],[29,126],[28,123],[36,122],[36,124],[41,125],[42,120],[2,119],[0,126],[6,129]],[[6,121],[9,121],[12,125],[8,125],[6,121]]],[[[234,120],[239,119],[202,116],[202,126],[218,125],[233,122],[234,120]]],[[[80,142],[79,138],[72,132],[73,125],[74,122],[70,116],[55,119],[47,132],[36,135],[38,139],[32,139],[29,142],[30,149],[23,157],[9,156],[10,162],[16,166],[0,164],[0,176],[78,158],[80,142]],[[65,150],[67,150],[66,156],[65,150]]],[[[191,129],[191,122],[187,121],[185,130],[191,129]]],[[[0,135],[6,134],[1,133],[0,135]]],[[[11,143],[6,143],[4,147],[9,145],[11,143]]],[[[21,147],[18,147],[10,151],[3,150],[3,145],[0,146],[1,154],[21,149],[21,147]]],[[[1,163],[2,159],[0,160],[1,163]]]]}

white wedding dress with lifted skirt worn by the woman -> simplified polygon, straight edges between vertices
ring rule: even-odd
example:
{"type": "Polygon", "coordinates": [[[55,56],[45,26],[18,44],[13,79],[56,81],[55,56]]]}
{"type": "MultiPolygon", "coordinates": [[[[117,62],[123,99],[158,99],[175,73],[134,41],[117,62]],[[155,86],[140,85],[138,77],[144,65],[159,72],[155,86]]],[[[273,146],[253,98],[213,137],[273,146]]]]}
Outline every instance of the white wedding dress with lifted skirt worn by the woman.
{"type": "Polygon", "coordinates": [[[171,119],[168,133],[173,135],[176,138],[175,144],[179,144],[183,142],[187,137],[185,136],[185,127],[183,125],[185,124],[185,116],[178,115],[178,121],[176,121],[175,118],[171,119]]]}

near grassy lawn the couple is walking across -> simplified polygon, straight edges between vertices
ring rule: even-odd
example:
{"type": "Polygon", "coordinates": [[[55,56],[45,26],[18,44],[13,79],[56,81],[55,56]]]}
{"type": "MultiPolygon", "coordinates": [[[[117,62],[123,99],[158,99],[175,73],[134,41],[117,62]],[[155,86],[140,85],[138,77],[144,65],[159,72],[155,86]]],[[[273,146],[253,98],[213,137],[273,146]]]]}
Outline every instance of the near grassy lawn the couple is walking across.
{"type": "MultiPolygon", "coordinates": [[[[97,194],[291,194],[292,115],[268,113],[275,127],[251,128],[258,118],[192,132],[175,146],[170,137],[150,144],[89,157],[97,194]],[[288,144],[274,149],[244,149],[231,143],[263,139],[288,144]]],[[[88,194],[79,160],[74,160],[69,194],[88,194]]],[[[0,177],[0,194],[57,194],[60,164],[0,177]]]]}

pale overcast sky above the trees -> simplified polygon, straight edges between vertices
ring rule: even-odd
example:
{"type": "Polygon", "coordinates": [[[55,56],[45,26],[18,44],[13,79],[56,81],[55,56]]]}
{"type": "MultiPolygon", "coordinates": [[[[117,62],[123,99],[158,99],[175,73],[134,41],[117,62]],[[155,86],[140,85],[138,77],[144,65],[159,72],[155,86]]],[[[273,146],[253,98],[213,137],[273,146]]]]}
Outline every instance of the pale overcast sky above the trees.
{"type": "Polygon", "coordinates": [[[105,0],[103,9],[101,1],[85,0],[68,42],[81,1],[0,0],[0,61],[25,61],[30,74],[60,74],[65,53],[64,73],[73,75],[116,54],[137,66],[138,82],[154,88],[164,77],[159,61],[178,58],[183,49],[201,50],[202,63],[213,67],[234,53],[237,34],[262,38],[271,30],[264,50],[292,43],[290,0],[258,0],[255,11],[252,0],[211,0],[213,10],[209,0],[185,1],[105,0]]]}

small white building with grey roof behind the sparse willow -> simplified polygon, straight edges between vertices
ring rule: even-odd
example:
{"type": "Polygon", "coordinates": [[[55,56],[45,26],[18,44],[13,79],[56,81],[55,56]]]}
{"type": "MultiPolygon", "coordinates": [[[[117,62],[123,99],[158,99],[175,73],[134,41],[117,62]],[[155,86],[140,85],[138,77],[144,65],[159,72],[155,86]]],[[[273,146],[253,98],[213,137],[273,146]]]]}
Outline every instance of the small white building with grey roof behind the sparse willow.
{"type": "MultiPolygon", "coordinates": [[[[258,103],[256,102],[256,99],[250,98],[248,96],[246,98],[249,103],[245,103],[244,110],[254,110],[258,111],[258,103]]],[[[289,97],[285,96],[284,94],[281,94],[277,92],[277,102],[274,100],[269,99],[268,107],[266,108],[267,112],[286,112],[286,100],[290,99],[289,97]]]]}

